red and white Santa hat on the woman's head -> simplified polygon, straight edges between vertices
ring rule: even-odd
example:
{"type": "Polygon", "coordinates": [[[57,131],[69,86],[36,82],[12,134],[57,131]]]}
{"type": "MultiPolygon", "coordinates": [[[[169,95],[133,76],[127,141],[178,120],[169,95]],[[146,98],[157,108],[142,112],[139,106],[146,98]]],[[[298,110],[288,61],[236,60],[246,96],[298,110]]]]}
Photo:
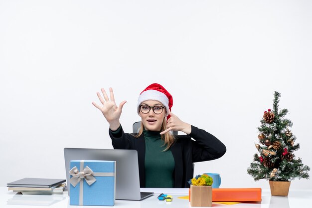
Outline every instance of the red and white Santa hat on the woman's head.
{"type": "Polygon", "coordinates": [[[168,114],[168,109],[171,111],[173,104],[173,99],[170,93],[160,84],[153,83],[145,90],[143,90],[138,99],[138,114],[140,112],[140,105],[146,100],[157,100],[163,104],[166,108],[167,119],[170,117],[168,114]]]}

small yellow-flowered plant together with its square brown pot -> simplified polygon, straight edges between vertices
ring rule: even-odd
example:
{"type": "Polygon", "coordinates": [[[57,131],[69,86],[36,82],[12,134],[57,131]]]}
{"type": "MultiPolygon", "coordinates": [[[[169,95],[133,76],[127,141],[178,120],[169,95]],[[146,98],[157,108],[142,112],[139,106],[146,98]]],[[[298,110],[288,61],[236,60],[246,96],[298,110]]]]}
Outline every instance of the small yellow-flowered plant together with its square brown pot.
{"type": "Polygon", "coordinates": [[[191,185],[191,207],[212,207],[212,178],[206,174],[197,175],[189,180],[188,183],[191,185]]]}

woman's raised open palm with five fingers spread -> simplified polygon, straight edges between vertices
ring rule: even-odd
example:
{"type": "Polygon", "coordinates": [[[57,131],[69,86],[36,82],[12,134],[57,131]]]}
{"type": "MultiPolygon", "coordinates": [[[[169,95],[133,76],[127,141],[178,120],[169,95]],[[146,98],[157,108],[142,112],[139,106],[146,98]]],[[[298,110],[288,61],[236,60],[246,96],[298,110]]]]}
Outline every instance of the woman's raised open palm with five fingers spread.
{"type": "Polygon", "coordinates": [[[117,107],[115,103],[113,89],[111,87],[110,87],[110,99],[108,98],[108,95],[106,94],[103,88],[101,89],[101,92],[103,94],[104,99],[99,92],[97,92],[96,94],[98,95],[102,105],[98,105],[95,102],[92,102],[92,104],[103,113],[104,117],[110,124],[111,130],[117,130],[120,125],[119,118],[122,113],[123,106],[127,101],[125,100],[122,101],[119,104],[119,107],[117,107]]]}

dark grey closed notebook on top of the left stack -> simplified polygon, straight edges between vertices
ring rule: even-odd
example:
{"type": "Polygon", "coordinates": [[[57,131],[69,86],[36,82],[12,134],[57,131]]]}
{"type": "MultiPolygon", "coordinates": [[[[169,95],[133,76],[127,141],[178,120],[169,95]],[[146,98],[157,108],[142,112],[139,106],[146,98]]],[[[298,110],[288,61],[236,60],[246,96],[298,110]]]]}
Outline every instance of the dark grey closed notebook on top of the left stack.
{"type": "Polygon", "coordinates": [[[64,183],[65,179],[24,178],[6,184],[7,187],[51,188],[64,183]]]}

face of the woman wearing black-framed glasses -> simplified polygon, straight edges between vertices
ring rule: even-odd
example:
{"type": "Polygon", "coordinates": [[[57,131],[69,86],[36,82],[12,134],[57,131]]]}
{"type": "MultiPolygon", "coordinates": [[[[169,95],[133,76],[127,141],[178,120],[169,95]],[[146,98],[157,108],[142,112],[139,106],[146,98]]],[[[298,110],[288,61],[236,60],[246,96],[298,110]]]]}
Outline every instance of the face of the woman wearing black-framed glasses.
{"type": "MultiPolygon", "coordinates": [[[[141,105],[146,105],[150,107],[154,107],[154,106],[163,107],[163,105],[159,101],[156,101],[156,100],[147,100],[147,101],[142,102],[141,105]]],[[[144,128],[149,131],[160,131],[162,121],[165,117],[165,112],[166,112],[165,108],[163,108],[160,114],[156,114],[153,111],[153,108],[151,108],[150,112],[148,113],[142,113],[142,111],[140,110],[139,115],[141,116],[144,128]]]]}

